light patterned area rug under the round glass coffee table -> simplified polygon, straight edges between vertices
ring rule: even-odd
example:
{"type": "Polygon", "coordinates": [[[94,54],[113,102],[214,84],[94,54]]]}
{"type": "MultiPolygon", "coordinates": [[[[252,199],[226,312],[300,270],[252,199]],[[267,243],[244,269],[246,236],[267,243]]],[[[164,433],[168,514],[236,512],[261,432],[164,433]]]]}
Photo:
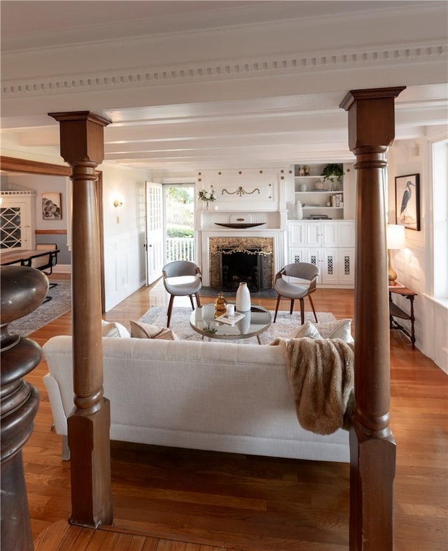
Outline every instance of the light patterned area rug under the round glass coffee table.
{"type": "MultiPolygon", "coordinates": [[[[201,341],[202,335],[196,333],[196,331],[193,331],[190,327],[190,315],[192,311],[193,310],[191,308],[173,308],[171,324],[169,327],[182,340],[201,341]]],[[[271,312],[271,315],[272,320],[274,320],[274,312],[271,312]]],[[[332,322],[336,320],[335,316],[330,312],[317,312],[316,315],[319,323],[332,322]]],[[[167,324],[167,308],[154,306],[153,308],[150,308],[139,321],[165,327],[167,324]]],[[[305,321],[315,322],[312,312],[305,312],[305,321]]],[[[293,331],[293,329],[299,326],[300,311],[294,311],[293,315],[290,315],[289,310],[288,312],[279,310],[276,322],[272,323],[269,329],[260,335],[260,342],[262,344],[269,344],[274,341],[274,338],[287,336],[291,331],[293,331]]],[[[226,341],[221,341],[220,339],[219,342],[223,343],[226,341]]],[[[251,337],[231,342],[238,342],[239,344],[257,344],[258,340],[256,337],[251,337]]]]}

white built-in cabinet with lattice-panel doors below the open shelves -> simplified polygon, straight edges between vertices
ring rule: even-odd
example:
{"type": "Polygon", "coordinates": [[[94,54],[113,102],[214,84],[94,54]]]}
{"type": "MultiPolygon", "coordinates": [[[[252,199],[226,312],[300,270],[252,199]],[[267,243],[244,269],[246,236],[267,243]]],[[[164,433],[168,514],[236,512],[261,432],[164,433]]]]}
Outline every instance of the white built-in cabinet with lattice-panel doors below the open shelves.
{"type": "Polygon", "coordinates": [[[318,283],[353,287],[354,220],[288,222],[288,263],[309,262],[321,271],[318,283]]]}

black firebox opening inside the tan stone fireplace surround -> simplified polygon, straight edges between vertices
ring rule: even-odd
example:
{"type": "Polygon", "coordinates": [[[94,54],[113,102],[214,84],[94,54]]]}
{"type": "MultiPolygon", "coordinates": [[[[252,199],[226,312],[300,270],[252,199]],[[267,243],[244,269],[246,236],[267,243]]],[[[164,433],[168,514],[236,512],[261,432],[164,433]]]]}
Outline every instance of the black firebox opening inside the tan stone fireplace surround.
{"type": "Polygon", "coordinates": [[[219,248],[221,289],[236,291],[241,281],[247,282],[252,292],[270,289],[272,255],[265,255],[259,247],[239,250],[219,248]]]}

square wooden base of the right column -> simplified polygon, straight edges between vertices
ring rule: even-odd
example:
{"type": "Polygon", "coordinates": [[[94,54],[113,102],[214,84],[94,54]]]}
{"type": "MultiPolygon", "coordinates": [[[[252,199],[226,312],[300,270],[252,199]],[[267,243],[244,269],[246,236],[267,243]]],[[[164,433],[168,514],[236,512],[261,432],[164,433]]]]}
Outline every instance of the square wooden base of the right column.
{"type": "Polygon", "coordinates": [[[391,551],[396,457],[393,435],[372,438],[351,426],[350,455],[350,551],[391,551]]]}

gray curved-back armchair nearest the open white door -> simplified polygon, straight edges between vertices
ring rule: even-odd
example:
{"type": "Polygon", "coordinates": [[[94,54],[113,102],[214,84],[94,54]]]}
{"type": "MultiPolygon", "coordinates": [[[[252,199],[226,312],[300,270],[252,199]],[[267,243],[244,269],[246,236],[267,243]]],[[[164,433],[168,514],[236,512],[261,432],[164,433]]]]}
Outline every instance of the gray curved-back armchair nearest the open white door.
{"type": "Polygon", "coordinates": [[[194,262],[188,260],[174,260],[165,264],[162,269],[163,285],[169,294],[168,305],[168,321],[167,327],[171,322],[171,315],[173,310],[174,296],[190,296],[190,302],[193,310],[195,304],[193,303],[193,294],[196,297],[197,307],[200,308],[201,301],[199,291],[202,287],[202,274],[201,269],[194,262]],[[179,278],[176,281],[172,281],[172,278],[179,278]]]}

